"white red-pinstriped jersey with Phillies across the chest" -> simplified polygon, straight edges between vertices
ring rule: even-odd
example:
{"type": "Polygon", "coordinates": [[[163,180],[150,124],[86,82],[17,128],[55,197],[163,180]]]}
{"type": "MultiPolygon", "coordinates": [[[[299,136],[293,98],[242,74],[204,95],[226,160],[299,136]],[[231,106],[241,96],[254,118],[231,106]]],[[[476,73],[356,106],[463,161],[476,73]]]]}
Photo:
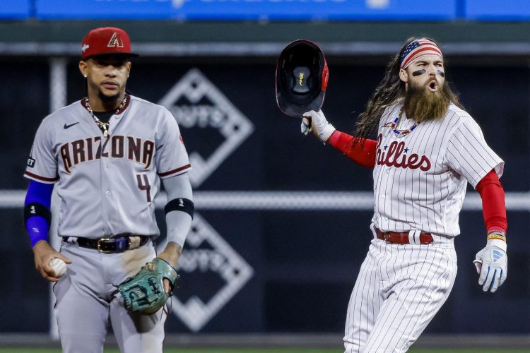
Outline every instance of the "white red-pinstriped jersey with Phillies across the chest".
{"type": "MultiPolygon", "coordinates": [[[[449,105],[443,119],[418,124],[404,136],[390,127],[400,109],[401,104],[389,107],[379,122],[372,222],[384,232],[457,236],[467,182],[475,187],[494,168],[500,177],[504,162],[485,143],[476,121],[456,105],[449,105]]],[[[396,128],[413,124],[403,114],[396,128]]]]}

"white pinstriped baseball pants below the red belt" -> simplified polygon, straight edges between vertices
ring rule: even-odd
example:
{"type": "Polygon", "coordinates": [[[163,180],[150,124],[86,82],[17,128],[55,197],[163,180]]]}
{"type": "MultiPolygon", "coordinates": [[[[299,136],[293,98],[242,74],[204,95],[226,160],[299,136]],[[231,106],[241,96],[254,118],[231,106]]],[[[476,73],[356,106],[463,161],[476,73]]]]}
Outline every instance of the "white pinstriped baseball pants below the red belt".
{"type": "Polygon", "coordinates": [[[449,297],[457,276],[453,239],[429,245],[373,239],[353,287],[345,352],[406,352],[449,297]]]}

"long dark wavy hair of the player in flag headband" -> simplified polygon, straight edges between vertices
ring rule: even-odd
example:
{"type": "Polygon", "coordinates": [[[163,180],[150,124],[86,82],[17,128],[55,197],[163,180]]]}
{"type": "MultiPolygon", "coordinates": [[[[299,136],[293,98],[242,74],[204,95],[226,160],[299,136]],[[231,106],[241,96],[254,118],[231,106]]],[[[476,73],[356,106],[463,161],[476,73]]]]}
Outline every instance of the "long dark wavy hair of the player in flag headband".
{"type": "MultiPolygon", "coordinates": [[[[387,72],[375,89],[375,92],[373,92],[370,100],[368,100],[365,111],[359,114],[357,124],[355,125],[355,131],[353,133],[353,136],[355,136],[354,143],[360,141],[361,138],[370,138],[370,136],[376,131],[377,126],[379,126],[379,120],[381,119],[384,110],[398,100],[404,99],[406,95],[405,83],[399,78],[401,53],[403,53],[408,44],[421,38],[426,38],[436,43],[435,40],[428,37],[410,37],[406,40],[396,56],[394,56],[387,65],[387,72]]],[[[450,102],[462,108],[458,95],[452,92],[447,80],[442,89],[449,97],[450,102]]]]}

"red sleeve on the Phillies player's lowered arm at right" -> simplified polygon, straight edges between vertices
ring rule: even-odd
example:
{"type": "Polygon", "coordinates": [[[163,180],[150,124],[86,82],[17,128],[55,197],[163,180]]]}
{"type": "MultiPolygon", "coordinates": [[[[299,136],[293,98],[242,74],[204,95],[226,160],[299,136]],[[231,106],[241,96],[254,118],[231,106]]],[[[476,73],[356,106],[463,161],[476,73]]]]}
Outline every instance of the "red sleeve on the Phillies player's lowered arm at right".
{"type": "Polygon", "coordinates": [[[476,191],[481,194],[482,212],[486,230],[506,233],[508,220],[506,218],[505,191],[502,189],[495,170],[491,170],[476,185],[476,191]]]}

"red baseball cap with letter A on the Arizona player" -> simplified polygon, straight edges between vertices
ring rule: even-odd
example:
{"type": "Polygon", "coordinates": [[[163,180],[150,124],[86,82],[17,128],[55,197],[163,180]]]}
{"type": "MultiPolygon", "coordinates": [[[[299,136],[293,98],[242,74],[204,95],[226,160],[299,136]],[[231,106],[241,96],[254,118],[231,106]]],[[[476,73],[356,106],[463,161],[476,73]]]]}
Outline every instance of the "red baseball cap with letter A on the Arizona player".
{"type": "Polygon", "coordinates": [[[138,56],[131,53],[131,39],[121,28],[102,27],[88,32],[81,42],[81,59],[105,54],[138,56]]]}

